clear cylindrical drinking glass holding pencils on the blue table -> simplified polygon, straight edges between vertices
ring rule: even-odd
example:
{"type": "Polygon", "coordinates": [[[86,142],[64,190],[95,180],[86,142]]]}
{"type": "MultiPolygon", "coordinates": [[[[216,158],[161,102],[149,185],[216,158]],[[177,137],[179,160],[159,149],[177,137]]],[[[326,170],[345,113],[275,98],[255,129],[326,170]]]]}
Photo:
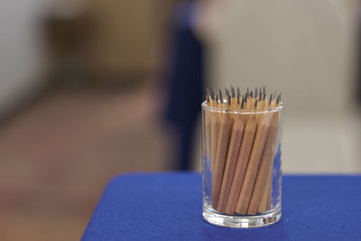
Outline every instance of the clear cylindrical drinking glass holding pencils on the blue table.
{"type": "Polygon", "coordinates": [[[281,218],[282,103],[230,110],[202,103],[203,218],[264,227],[281,218]]]}

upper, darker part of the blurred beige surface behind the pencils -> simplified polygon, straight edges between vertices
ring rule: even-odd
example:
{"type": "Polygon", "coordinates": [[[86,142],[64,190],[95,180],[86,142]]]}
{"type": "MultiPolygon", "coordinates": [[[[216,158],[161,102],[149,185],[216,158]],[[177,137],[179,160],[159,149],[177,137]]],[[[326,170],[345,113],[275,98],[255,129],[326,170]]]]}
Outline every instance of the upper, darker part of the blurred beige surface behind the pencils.
{"type": "Polygon", "coordinates": [[[279,89],[290,112],[341,111],[351,96],[355,4],[231,0],[219,12],[209,76],[220,86],[279,89]]]}

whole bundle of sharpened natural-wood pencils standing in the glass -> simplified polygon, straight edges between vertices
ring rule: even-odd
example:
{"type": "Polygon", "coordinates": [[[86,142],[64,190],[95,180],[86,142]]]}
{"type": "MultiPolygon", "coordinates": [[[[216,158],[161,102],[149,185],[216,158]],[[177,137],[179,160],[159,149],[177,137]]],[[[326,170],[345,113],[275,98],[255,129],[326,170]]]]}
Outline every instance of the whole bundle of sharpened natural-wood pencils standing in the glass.
{"type": "Polygon", "coordinates": [[[273,159],[281,94],[265,88],[207,89],[205,154],[211,172],[211,204],[228,215],[255,215],[272,208],[273,159]]]}

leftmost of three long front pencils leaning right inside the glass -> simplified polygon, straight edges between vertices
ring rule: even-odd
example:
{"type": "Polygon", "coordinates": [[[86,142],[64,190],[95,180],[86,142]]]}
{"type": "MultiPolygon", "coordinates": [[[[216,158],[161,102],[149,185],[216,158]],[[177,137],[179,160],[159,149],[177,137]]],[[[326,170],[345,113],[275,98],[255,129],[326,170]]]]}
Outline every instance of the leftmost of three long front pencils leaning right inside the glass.
{"type": "Polygon", "coordinates": [[[218,199],[218,211],[225,212],[227,199],[236,169],[236,162],[241,147],[242,137],[245,130],[244,117],[241,114],[236,116],[236,122],[232,128],[231,139],[227,153],[226,167],[223,174],[222,186],[218,199]]]}

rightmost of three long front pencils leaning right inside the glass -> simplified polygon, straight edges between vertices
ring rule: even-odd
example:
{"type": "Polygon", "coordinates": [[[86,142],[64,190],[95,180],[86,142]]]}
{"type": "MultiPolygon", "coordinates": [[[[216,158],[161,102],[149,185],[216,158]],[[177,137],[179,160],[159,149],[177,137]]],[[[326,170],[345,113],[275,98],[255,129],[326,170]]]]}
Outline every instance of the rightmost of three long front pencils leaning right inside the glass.
{"type": "Polygon", "coordinates": [[[264,144],[267,140],[267,134],[270,124],[271,115],[264,114],[264,116],[261,117],[259,125],[257,126],[255,143],[253,145],[252,153],[247,164],[247,169],[245,171],[245,180],[243,181],[242,189],[236,205],[236,213],[238,214],[246,214],[252,191],[255,186],[255,178],[264,150],[264,144]]]}

